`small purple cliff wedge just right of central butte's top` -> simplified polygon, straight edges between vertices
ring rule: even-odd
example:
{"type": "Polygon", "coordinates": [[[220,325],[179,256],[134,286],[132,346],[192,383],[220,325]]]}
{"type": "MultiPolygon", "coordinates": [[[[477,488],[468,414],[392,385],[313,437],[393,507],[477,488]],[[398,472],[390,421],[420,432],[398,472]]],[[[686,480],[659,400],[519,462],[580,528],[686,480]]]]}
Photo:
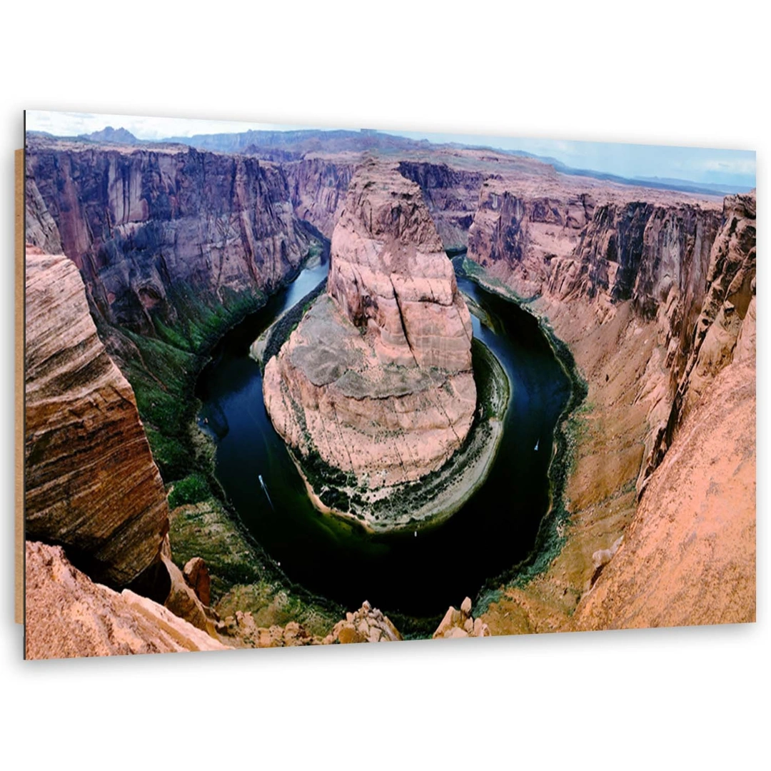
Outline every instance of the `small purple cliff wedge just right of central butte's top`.
{"type": "Polygon", "coordinates": [[[419,185],[444,248],[458,251],[466,247],[480,187],[487,175],[453,169],[446,163],[409,160],[399,163],[399,173],[419,185]]]}

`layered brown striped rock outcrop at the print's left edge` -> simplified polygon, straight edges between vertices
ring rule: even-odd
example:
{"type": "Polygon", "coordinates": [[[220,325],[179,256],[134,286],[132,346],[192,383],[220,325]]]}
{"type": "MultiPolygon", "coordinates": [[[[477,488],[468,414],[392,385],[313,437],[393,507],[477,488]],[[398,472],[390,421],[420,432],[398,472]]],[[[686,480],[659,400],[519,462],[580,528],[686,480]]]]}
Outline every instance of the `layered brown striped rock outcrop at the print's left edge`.
{"type": "Polygon", "coordinates": [[[62,544],[95,581],[126,586],[160,561],[166,493],[77,268],[36,252],[26,258],[27,537],[62,544]]]}

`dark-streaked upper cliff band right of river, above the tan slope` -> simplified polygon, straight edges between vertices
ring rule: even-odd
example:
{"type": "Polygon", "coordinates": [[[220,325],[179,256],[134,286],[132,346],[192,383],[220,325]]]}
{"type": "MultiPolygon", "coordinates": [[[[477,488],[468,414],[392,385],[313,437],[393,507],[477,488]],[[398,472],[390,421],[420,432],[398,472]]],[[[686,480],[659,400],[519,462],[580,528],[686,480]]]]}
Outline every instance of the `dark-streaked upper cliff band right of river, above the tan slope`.
{"type": "Polygon", "coordinates": [[[726,217],[712,201],[634,188],[610,188],[601,197],[574,180],[530,190],[491,179],[482,187],[469,234],[471,260],[536,300],[549,318],[585,306],[590,323],[601,325],[628,302],[641,325],[654,323],[655,350],[637,384],[648,402],[640,491],[672,436],[672,409],[686,369],[693,368],[694,329],[708,284],[725,281],[716,278],[725,272],[722,263],[710,266],[726,217]]]}

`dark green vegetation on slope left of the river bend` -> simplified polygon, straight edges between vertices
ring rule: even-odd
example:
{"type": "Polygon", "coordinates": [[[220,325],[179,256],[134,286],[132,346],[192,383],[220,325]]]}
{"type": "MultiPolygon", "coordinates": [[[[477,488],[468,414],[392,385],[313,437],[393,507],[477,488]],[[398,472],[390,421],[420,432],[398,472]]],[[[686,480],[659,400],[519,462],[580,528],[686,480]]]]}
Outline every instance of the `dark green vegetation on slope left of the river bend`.
{"type": "MultiPolygon", "coordinates": [[[[311,247],[309,258],[322,248],[311,247]]],[[[315,292],[322,290],[323,285],[315,292]]],[[[202,296],[180,284],[168,300],[173,316],[151,311],[155,336],[120,325],[103,325],[99,335],[133,388],[153,458],[170,490],[173,561],[181,568],[191,557],[203,557],[212,602],[223,616],[251,611],[258,625],[294,619],[312,634],[325,635],[345,611],[291,584],[251,539],[224,501],[214,476],[214,443],[196,423],[195,385],[214,345],[262,308],[267,296],[257,289],[237,294],[227,288],[218,297],[202,296]]]]}

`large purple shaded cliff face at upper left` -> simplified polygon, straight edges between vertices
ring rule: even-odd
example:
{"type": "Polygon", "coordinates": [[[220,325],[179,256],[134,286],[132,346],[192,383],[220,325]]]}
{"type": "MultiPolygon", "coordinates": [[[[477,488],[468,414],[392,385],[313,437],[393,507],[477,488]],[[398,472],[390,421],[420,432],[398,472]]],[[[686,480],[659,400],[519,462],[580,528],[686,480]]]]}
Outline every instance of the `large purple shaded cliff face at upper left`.
{"type": "Polygon", "coordinates": [[[113,325],[176,325],[275,286],[308,253],[284,173],[254,157],[31,143],[26,162],[28,204],[37,190],[113,325]]]}

